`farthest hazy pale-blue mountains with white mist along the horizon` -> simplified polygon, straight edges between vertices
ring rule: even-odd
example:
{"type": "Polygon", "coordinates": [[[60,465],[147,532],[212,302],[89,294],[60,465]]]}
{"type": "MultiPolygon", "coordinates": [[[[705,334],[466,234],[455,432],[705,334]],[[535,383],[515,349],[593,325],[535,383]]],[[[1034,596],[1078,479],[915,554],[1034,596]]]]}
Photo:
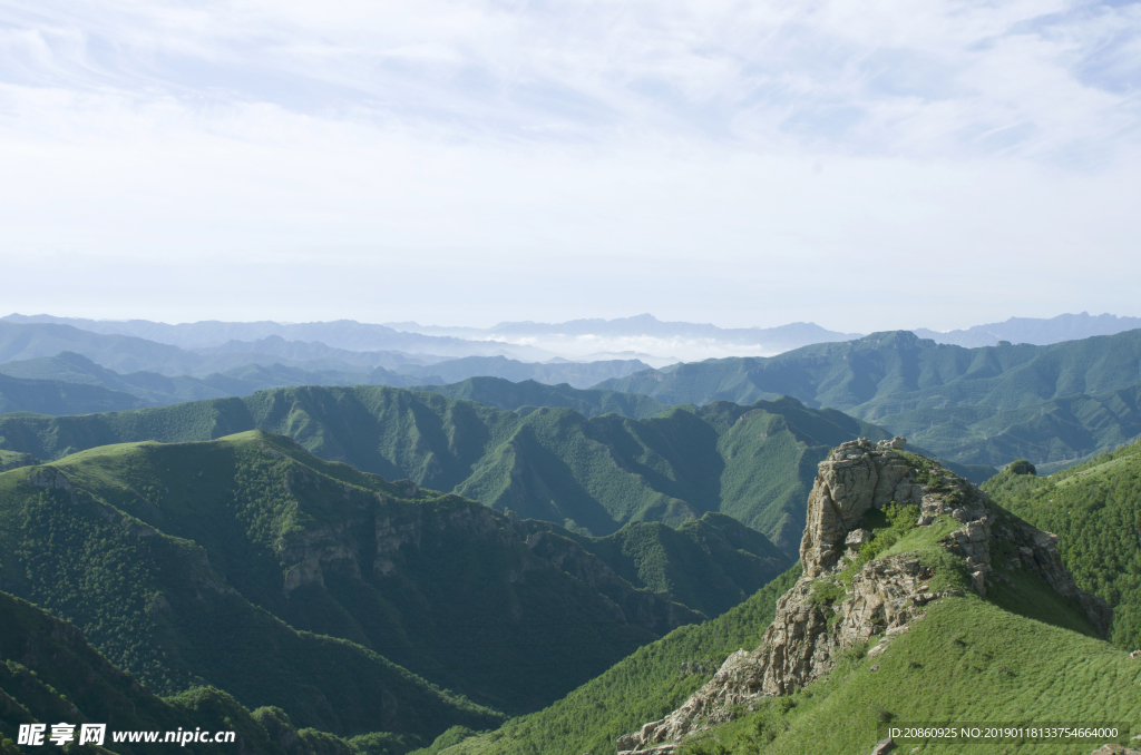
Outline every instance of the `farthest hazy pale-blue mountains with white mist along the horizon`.
{"type": "MultiPolygon", "coordinates": [[[[504,356],[520,362],[550,362],[552,358],[569,358],[574,362],[640,359],[654,367],[664,367],[682,360],[774,356],[803,346],[847,341],[863,335],[831,331],[815,323],[790,323],[776,327],[719,327],[707,323],[663,322],[649,314],[565,323],[504,322],[491,327],[421,325],[414,322],[377,325],[355,320],[204,320],[169,325],[141,319],[95,320],[18,314],[0,318],[0,322],[71,325],[91,333],[141,338],[201,354],[277,355],[293,363],[311,362],[309,368],[313,370],[342,371],[343,365],[332,366],[332,363],[345,363],[358,368],[382,366],[396,370],[404,364],[432,364],[466,356],[504,356]],[[322,359],[325,360],[325,367],[318,366],[322,359]]],[[[1011,317],[1003,323],[947,332],[919,327],[914,332],[937,343],[977,348],[997,346],[1000,341],[1049,346],[1094,335],[1112,335],[1139,327],[1141,318],[1138,317],[1108,314],[1091,316],[1081,312],[1051,318],[1011,317]]]]}

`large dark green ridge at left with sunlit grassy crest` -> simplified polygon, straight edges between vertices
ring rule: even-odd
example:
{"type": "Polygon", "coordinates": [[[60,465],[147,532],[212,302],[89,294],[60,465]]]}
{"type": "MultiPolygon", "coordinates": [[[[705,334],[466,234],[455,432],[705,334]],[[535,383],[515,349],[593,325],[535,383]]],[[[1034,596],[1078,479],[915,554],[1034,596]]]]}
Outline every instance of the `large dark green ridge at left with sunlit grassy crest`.
{"type": "MultiPolygon", "coordinates": [[[[704,618],[629,584],[590,538],[539,529],[261,431],[121,444],[0,474],[0,588],[156,691],[212,684],[299,725],[435,736],[496,721],[442,688],[526,712],[704,618]]],[[[787,563],[737,522],[695,531],[663,538],[665,573],[741,566],[752,584],[787,563]]]]}

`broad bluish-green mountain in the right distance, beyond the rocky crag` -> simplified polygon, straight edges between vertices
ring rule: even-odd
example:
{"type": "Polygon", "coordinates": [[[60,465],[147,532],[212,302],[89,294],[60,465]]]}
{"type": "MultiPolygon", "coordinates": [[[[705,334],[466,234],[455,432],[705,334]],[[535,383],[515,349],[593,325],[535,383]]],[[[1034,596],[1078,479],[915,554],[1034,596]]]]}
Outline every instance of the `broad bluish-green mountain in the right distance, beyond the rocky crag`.
{"type": "Polygon", "coordinates": [[[776,357],[709,359],[596,388],[666,404],[794,396],[831,406],[962,464],[1075,460],[1141,432],[1141,331],[1052,346],[979,349],[907,331],[776,357]]]}

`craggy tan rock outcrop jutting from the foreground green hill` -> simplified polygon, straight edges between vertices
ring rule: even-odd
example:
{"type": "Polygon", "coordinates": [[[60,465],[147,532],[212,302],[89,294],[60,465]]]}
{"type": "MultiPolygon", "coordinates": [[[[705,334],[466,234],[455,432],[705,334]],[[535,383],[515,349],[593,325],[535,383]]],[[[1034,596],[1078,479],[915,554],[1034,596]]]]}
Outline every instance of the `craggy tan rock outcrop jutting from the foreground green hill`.
{"type": "Polygon", "coordinates": [[[859,547],[871,533],[861,525],[872,509],[889,503],[919,509],[920,527],[949,518],[960,527],[940,541],[962,559],[973,590],[986,594],[994,571],[992,553],[1005,567],[1039,575],[1066,598],[1078,601],[1102,634],[1109,609],[1083,593],[1061,563],[1054,535],[998,511],[989,497],[938,464],[904,453],[903,438],[845,443],[819,465],[808,498],[800,554],[804,574],[776,606],[776,617],[754,650],[729,656],[713,679],[680,708],[632,734],[620,737],[620,753],[665,755],[689,733],[728,721],[734,709],[760,697],[786,695],[831,672],[848,650],[872,640],[868,652],[884,652],[895,636],[922,620],[929,603],[963,595],[930,590],[936,576],[913,553],[877,558],[858,566],[859,547]],[[848,567],[850,585],[837,579],[848,567]],[[822,598],[830,587],[842,596],[822,598]]]}

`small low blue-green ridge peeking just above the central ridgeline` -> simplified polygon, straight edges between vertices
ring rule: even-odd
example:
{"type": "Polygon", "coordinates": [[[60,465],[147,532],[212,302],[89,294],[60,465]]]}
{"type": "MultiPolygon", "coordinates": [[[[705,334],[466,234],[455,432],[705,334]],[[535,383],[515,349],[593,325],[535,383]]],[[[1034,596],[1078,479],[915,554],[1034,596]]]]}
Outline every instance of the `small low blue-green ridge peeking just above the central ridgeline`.
{"type": "Polygon", "coordinates": [[[567,383],[545,385],[534,380],[511,382],[502,378],[469,378],[446,385],[419,385],[416,390],[462,398],[505,412],[527,412],[532,407],[547,406],[574,409],[583,416],[613,412],[633,420],[645,420],[669,408],[641,393],[583,390],[567,383]]]}

